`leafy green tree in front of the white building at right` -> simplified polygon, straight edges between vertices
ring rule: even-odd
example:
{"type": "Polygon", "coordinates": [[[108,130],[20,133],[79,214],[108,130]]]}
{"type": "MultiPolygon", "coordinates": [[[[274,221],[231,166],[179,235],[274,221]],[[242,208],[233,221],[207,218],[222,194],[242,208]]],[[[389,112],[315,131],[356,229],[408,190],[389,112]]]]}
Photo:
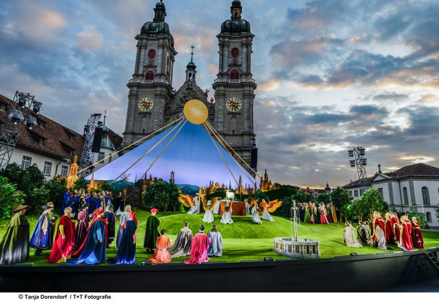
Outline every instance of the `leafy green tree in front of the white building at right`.
{"type": "Polygon", "coordinates": [[[378,191],[378,188],[371,188],[361,195],[361,199],[355,200],[352,206],[352,213],[360,218],[370,218],[374,211],[388,212],[388,204],[378,191]]]}

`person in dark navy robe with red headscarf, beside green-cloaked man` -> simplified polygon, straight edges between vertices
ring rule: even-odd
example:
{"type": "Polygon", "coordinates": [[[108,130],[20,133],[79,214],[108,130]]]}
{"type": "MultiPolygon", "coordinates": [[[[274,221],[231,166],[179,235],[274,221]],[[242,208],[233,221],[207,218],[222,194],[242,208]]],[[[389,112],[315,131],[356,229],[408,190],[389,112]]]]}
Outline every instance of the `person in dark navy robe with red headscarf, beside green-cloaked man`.
{"type": "Polygon", "coordinates": [[[136,261],[136,212],[130,212],[130,219],[122,226],[124,232],[116,255],[116,264],[134,264],[136,261]]]}

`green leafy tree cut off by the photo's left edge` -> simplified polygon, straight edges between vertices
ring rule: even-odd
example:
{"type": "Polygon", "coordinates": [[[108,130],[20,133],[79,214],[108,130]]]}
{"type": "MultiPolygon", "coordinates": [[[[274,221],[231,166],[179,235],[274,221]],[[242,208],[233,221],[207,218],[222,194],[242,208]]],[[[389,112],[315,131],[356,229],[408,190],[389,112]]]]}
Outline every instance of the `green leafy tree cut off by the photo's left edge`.
{"type": "Polygon", "coordinates": [[[25,204],[25,198],[23,191],[17,190],[6,177],[0,176],[0,219],[11,216],[15,208],[25,204]]]}

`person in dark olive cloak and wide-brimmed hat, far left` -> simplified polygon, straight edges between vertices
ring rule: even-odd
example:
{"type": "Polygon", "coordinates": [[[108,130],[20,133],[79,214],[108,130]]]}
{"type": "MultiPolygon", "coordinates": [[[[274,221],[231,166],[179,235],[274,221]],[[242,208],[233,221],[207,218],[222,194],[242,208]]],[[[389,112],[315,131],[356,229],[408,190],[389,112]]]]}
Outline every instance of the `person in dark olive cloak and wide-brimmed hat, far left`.
{"type": "Polygon", "coordinates": [[[25,216],[28,205],[18,206],[0,242],[0,264],[22,263],[29,260],[29,223],[25,216]]]}

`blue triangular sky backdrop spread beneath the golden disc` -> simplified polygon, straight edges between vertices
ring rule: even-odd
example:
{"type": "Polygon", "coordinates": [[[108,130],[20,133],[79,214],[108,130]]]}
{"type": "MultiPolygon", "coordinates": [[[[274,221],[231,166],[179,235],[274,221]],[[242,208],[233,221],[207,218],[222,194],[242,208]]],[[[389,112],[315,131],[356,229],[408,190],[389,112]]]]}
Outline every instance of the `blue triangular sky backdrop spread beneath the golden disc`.
{"type": "MultiPolygon", "coordinates": [[[[183,121],[184,122],[184,121],[183,121]]],[[[137,146],[133,150],[117,158],[108,165],[94,172],[94,180],[114,180],[127,168],[129,168],[145,152],[151,149],[159,142],[169,131],[176,128],[170,133],[159,145],[156,146],[148,155],[144,156],[136,165],[134,165],[127,174],[131,174],[129,180],[140,179],[145,171],[150,167],[154,159],[163,150],[166,144],[172,139],[182,123],[169,127],[165,131],[156,135],[154,138],[137,146]]],[[[242,171],[227,151],[215,141],[231,169],[236,180],[242,177],[242,185],[246,184],[254,187],[256,180],[247,171],[242,171]],[[249,178],[252,179],[252,182],[249,178]]],[[[99,163],[97,163],[99,164],[99,163]]],[[[218,153],[212,142],[210,134],[203,125],[192,124],[189,121],[183,126],[175,139],[169,144],[160,158],[155,162],[148,172],[147,177],[152,174],[153,177],[162,178],[168,181],[170,173],[175,172],[175,182],[177,184],[192,184],[197,186],[207,186],[209,181],[213,180],[221,184],[236,187],[223,158],[218,153]]],[[[91,179],[91,175],[87,177],[91,179]]],[[[120,180],[120,178],[118,179],[120,180]]]]}

